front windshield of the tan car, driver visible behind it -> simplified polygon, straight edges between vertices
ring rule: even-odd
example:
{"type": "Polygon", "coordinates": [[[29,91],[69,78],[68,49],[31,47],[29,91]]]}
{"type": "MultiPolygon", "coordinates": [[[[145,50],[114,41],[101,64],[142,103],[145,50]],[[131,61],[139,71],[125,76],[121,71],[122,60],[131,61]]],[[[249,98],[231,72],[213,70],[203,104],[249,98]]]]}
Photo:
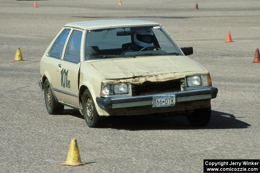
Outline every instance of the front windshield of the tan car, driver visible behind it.
{"type": "Polygon", "coordinates": [[[169,54],[182,55],[161,26],[87,30],[85,60],[169,54]]]}

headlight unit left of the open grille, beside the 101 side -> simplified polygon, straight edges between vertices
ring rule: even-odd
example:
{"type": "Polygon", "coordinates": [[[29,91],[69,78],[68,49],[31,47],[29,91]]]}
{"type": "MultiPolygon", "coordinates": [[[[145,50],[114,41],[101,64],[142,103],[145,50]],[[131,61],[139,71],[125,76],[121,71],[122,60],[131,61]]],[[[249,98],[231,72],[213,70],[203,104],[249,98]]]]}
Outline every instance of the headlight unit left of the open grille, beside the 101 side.
{"type": "MultiPolygon", "coordinates": [[[[130,85],[130,84],[129,84],[130,85]]],[[[100,95],[128,94],[128,84],[101,84],[100,95]]]]}

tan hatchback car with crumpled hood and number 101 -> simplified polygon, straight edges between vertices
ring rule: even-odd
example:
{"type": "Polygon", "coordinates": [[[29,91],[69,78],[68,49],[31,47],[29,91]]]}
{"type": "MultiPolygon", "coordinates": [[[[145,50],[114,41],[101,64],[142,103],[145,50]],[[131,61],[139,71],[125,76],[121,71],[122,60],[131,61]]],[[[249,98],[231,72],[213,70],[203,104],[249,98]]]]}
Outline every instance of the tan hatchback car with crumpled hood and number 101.
{"type": "Polygon", "coordinates": [[[210,121],[216,98],[210,73],[164,27],[140,20],[66,24],[40,61],[49,114],[80,110],[89,127],[102,116],[169,113],[191,125],[210,121]]]}

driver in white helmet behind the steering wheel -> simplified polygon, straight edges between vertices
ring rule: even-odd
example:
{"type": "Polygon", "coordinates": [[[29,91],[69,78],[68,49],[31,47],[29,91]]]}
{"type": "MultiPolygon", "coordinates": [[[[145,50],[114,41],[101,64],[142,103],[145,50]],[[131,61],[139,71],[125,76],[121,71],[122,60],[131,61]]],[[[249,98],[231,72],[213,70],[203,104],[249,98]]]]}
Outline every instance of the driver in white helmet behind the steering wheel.
{"type": "Polygon", "coordinates": [[[137,52],[146,47],[154,47],[154,34],[150,28],[138,28],[134,34],[134,44],[122,52],[137,52]]]}

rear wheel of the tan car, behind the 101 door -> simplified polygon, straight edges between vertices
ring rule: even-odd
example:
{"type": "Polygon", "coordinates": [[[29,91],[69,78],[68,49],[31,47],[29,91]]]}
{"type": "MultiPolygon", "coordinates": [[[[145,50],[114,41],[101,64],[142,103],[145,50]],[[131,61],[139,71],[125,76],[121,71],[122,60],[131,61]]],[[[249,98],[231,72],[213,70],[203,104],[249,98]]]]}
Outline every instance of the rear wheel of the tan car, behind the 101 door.
{"type": "Polygon", "coordinates": [[[44,82],[44,99],[45,99],[46,109],[50,115],[63,113],[64,105],[58,103],[54,98],[48,79],[46,79],[46,81],[44,82]]]}

